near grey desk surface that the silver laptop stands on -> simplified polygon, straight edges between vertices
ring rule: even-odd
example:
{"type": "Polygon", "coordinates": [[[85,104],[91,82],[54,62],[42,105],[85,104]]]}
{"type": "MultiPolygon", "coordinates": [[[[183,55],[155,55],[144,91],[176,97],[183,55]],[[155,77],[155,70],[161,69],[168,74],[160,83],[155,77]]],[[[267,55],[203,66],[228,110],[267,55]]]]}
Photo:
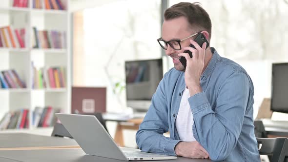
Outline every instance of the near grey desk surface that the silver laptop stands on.
{"type": "MultiPolygon", "coordinates": [[[[121,160],[86,155],[81,148],[61,149],[61,150],[51,149],[51,150],[0,151],[0,157],[13,159],[21,162],[124,162],[121,160]]],[[[200,160],[200,159],[188,159],[178,157],[176,160],[141,161],[141,162],[211,162],[211,161],[207,159],[200,160]]]]}

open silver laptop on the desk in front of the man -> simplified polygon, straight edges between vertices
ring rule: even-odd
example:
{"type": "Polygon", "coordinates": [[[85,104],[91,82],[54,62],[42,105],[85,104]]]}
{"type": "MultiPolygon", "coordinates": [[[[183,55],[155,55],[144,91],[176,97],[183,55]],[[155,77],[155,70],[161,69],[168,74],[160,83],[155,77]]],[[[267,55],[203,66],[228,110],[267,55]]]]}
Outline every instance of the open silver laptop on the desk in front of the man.
{"type": "Polygon", "coordinates": [[[94,115],[55,114],[86,154],[123,161],[177,159],[174,156],[119,148],[94,115]]]}

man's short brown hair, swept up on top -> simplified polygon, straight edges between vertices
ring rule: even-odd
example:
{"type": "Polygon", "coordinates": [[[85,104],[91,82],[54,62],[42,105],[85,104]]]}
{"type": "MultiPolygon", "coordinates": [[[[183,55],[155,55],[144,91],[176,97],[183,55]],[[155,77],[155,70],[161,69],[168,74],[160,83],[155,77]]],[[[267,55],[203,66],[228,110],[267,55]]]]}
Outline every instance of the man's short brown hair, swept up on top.
{"type": "Polygon", "coordinates": [[[206,30],[209,33],[209,40],[211,39],[211,20],[199,2],[180,2],[167,8],[164,13],[165,20],[171,20],[181,16],[188,20],[191,27],[206,30]]]}

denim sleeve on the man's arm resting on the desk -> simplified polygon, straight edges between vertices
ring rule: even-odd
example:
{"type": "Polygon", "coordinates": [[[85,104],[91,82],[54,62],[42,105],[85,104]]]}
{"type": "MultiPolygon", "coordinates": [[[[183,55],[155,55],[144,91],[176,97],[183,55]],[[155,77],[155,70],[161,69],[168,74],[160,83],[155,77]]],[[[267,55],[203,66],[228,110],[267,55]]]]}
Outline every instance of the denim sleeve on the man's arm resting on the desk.
{"type": "Polygon", "coordinates": [[[144,152],[176,156],[175,146],[179,140],[165,137],[168,132],[168,112],[165,102],[164,79],[160,81],[139,130],[136,133],[136,142],[144,152]]]}

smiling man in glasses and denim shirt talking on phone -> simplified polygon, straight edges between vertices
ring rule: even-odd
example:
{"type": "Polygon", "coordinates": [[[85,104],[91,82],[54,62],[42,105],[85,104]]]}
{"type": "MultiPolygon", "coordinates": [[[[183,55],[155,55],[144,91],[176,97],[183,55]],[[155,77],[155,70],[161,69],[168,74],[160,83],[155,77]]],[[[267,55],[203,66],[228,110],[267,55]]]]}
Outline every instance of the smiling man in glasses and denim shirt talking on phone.
{"type": "Polygon", "coordinates": [[[220,57],[215,48],[193,41],[197,33],[211,39],[211,20],[198,3],[175,4],[164,17],[158,41],[174,68],[158,85],[136,134],[138,146],[145,152],[187,158],[260,162],[253,83],[247,72],[220,57]],[[195,48],[188,47],[190,43],[195,48]],[[187,60],[186,68],[179,57],[187,60]],[[170,138],[163,135],[168,131],[170,138]]]}

